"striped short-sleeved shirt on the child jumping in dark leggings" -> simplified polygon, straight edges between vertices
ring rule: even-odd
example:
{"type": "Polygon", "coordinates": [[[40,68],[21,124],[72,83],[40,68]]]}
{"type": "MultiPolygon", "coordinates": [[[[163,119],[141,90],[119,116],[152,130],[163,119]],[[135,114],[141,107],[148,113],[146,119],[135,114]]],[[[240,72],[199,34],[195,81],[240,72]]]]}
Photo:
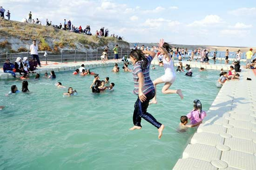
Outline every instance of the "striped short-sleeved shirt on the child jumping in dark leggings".
{"type": "Polygon", "coordinates": [[[144,76],[144,85],[142,87],[142,92],[144,94],[147,94],[148,92],[152,91],[155,89],[154,84],[152,82],[152,80],[150,79],[149,76],[149,70],[150,70],[150,63],[152,61],[152,57],[148,56],[148,58],[146,58],[148,60],[148,64],[147,64],[147,68],[142,70],[141,68],[141,61],[138,61],[137,63],[135,63],[134,68],[133,68],[133,80],[134,80],[134,91],[133,93],[138,95],[139,94],[139,77],[138,77],[138,73],[143,72],[143,76],[144,76]]]}

